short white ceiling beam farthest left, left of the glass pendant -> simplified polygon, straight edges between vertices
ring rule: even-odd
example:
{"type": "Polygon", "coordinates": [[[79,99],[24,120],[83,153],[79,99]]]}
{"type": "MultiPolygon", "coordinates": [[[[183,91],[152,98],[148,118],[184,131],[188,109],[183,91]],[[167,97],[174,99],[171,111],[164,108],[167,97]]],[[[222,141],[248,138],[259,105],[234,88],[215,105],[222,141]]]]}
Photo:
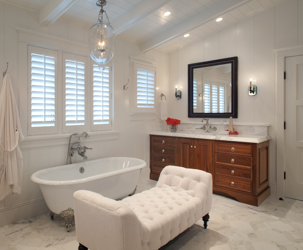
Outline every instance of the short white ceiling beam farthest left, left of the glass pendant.
{"type": "Polygon", "coordinates": [[[39,13],[39,23],[50,25],[77,0],[50,0],[39,13]]]}

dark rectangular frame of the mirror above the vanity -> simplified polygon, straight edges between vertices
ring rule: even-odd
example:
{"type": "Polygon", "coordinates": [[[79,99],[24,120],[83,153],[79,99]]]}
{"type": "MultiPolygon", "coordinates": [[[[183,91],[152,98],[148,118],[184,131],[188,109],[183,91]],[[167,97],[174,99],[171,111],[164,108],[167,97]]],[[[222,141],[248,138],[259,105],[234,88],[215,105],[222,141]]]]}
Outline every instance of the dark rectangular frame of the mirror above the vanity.
{"type": "Polygon", "coordinates": [[[197,62],[188,65],[188,117],[238,117],[238,57],[229,57],[207,62],[197,62]],[[198,113],[193,112],[193,70],[208,66],[231,63],[231,112],[226,113],[198,113]]]}

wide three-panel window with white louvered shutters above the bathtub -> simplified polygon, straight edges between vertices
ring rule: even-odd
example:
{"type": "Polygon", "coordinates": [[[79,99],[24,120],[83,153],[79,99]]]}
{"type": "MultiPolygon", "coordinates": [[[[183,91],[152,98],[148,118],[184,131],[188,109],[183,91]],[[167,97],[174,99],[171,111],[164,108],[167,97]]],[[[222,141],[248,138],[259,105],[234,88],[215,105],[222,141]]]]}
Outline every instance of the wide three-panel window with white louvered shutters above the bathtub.
{"type": "Polygon", "coordinates": [[[28,45],[28,135],[111,130],[111,74],[111,63],[101,72],[87,56],[28,45]]]}

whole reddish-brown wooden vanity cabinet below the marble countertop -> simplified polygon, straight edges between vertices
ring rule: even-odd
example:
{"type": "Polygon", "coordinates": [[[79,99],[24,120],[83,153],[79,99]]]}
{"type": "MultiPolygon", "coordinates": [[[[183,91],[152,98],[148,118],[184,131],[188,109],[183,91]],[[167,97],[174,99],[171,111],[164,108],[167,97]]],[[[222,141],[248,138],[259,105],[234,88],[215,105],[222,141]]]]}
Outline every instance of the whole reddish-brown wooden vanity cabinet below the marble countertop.
{"type": "Polygon", "coordinates": [[[213,193],[259,206],[270,195],[268,146],[150,135],[150,179],[166,165],[200,169],[212,174],[213,193]]]}

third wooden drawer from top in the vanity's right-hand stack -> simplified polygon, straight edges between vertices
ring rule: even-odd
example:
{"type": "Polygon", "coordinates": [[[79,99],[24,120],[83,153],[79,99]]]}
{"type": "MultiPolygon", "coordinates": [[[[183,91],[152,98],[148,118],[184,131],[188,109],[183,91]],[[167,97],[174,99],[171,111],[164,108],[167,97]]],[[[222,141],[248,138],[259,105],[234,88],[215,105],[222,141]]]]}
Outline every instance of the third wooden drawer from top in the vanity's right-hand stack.
{"type": "Polygon", "coordinates": [[[252,169],[228,165],[215,165],[215,174],[252,180],[252,169]]]}

